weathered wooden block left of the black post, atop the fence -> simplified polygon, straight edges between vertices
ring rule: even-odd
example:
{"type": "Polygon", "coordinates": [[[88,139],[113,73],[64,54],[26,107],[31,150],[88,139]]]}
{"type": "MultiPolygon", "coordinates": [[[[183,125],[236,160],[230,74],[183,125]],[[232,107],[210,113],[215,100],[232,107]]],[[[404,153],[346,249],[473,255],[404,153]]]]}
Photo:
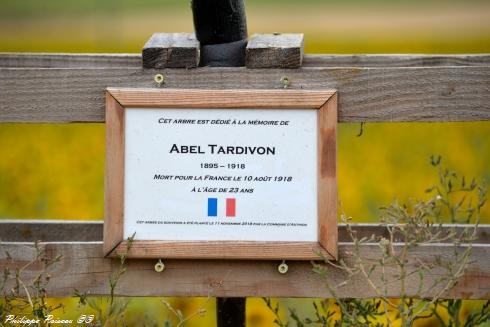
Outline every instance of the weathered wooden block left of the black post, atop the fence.
{"type": "Polygon", "coordinates": [[[155,33],[142,50],[143,68],[199,66],[199,41],[192,33],[155,33]]]}

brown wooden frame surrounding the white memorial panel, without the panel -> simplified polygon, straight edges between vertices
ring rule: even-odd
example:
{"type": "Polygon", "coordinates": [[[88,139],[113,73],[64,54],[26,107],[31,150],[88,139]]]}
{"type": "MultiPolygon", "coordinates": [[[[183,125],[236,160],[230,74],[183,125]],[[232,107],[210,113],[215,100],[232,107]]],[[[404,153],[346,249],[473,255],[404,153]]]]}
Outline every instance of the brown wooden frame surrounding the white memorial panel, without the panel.
{"type": "MultiPolygon", "coordinates": [[[[144,109],[142,109],[144,110],[144,109]]],[[[103,251],[129,258],[337,259],[337,93],[335,90],[106,90],[105,222],[103,251]],[[124,151],[126,108],[316,109],[318,242],[143,241],[126,253],[124,151]],[[227,251],[221,251],[223,248],[227,251]]]]}

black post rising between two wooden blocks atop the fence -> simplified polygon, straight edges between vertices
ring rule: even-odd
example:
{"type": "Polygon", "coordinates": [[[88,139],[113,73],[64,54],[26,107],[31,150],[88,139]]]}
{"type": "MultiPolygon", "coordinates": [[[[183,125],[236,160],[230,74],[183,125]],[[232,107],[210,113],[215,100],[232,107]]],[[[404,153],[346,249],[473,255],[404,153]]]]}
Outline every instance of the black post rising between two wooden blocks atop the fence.
{"type": "Polygon", "coordinates": [[[201,66],[245,65],[247,20],[243,0],[192,0],[201,66]]]}

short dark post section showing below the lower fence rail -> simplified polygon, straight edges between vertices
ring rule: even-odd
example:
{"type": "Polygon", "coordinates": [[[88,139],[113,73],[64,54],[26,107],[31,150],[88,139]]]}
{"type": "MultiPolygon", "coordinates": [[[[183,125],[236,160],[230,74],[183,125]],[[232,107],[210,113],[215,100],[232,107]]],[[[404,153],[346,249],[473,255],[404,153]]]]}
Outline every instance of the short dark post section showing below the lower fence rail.
{"type": "Polygon", "coordinates": [[[245,327],[245,298],[216,299],[218,327],[245,327]]]}

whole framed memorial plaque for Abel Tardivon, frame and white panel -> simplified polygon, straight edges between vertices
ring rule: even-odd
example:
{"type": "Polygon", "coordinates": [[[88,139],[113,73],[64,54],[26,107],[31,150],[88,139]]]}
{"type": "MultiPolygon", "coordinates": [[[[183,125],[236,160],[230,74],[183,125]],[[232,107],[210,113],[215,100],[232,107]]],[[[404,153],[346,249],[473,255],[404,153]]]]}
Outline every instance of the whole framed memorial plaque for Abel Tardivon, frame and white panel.
{"type": "Polygon", "coordinates": [[[104,250],[336,257],[334,91],[108,89],[104,250]]]}

